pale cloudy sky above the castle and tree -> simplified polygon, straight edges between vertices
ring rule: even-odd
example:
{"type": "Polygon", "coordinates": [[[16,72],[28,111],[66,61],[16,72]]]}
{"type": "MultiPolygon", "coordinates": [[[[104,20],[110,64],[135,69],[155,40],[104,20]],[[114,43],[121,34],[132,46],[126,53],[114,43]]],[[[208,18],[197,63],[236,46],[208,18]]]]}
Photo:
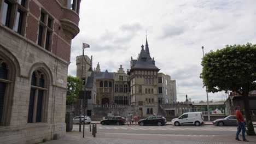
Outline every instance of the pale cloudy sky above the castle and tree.
{"type": "MultiPolygon", "coordinates": [[[[82,44],[93,68],[117,72],[130,69],[146,43],[160,69],[176,80],[177,100],[206,101],[200,73],[204,53],[225,45],[256,44],[256,1],[251,0],[83,0],[80,3],[80,32],[72,40],[68,75],[76,75],[75,57],[82,44]]],[[[225,100],[224,92],[208,93],[209,100],[225,100]]]]}

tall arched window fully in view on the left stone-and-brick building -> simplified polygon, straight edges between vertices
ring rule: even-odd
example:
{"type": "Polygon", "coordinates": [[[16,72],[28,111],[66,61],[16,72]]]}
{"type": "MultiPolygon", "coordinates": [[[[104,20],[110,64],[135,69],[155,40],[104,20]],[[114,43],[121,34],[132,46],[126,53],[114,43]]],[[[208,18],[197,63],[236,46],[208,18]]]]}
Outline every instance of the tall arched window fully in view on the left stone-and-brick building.
{"type": "Polygon", "coordinates": [[[36,70],[31,77],[30,102],[28,105],[27,123],[44,122],[43,111],[46,103],[46,83],[42,71],[36,70]]]}

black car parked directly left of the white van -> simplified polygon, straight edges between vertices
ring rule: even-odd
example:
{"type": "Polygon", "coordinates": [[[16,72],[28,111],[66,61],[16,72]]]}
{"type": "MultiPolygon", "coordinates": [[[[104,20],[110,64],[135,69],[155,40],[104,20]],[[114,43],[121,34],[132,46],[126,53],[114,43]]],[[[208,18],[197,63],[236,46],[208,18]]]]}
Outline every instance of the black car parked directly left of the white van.
{"type": "Polygon", "coordinates": [[[163,116],[149,116],[145,119],[140,119],[138,121],[139,125],[164,125],[166,124],[166,118],[163,116]]]}

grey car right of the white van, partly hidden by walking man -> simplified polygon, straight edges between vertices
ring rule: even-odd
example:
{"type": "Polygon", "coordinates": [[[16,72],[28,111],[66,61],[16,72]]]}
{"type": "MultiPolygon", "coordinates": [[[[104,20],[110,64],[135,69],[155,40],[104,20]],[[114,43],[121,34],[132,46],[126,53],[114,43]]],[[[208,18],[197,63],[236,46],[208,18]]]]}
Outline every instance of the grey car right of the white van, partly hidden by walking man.
{"type": "MultiPolygon", "coordinates": [[[[246,119],[245,119],[246,121],[246,119]]],[[[216,119],[212,122],[214,125],[223,126],[223,125],[235,125],[237,126],[236,116],[230,115],[225,118],[216,119]]],[[[246,122],[245,122],[246,124],[246,122]]]]}

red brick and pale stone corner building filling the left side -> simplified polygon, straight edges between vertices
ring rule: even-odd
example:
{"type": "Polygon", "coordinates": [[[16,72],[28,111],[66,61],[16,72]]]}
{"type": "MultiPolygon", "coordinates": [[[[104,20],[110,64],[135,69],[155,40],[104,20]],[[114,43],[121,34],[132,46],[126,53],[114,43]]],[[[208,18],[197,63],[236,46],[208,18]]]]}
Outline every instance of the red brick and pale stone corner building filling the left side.
{"type": "Polygon", "coordinates": [[[80,0],[0,1],[0,143],[65,136],[80,0]]]}

